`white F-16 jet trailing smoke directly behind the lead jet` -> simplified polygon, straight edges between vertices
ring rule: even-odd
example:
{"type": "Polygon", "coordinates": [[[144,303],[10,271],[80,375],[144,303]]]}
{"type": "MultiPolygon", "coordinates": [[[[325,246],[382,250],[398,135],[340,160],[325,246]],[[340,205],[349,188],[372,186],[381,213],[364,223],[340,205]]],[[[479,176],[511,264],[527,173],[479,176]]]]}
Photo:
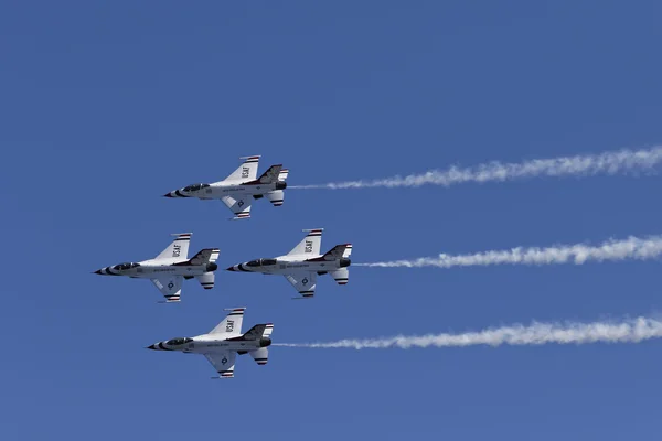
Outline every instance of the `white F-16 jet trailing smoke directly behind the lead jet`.
{"type": "Polygon", "coordinates": [[[308,235],[291,251],[273,259],[256,259],[235,265],[228,271],[261,272],[281,275],[303,298],[314,294],[317,277],[329,273],[338,284],[346,284],[350,277],[349,259],[352,244],[337,245],[321,255],[322,229],[305,229],[308,235]]]}

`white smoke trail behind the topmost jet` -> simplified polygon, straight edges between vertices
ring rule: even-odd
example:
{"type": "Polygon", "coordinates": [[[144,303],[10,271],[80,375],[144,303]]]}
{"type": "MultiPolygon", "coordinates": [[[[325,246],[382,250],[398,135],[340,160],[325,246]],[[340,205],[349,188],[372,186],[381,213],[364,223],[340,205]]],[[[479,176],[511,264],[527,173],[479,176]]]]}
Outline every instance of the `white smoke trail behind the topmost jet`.
{"type": "Polygon", "coordinates": [[[503,182],[538,176],[591,176],[596,174],[621,174],[652,171],[662,162],[662,147],[641,150],[619,150],[599,154],[535,159],[520,163],[489,162],[471,168],[451,166],[430,170],[423,174],[393,176],[373,181],[349,181],[318,185],[291,185],[288,189],[367,189],[417,187],[426,184],[451,186],[466,182],[503,182]]]}

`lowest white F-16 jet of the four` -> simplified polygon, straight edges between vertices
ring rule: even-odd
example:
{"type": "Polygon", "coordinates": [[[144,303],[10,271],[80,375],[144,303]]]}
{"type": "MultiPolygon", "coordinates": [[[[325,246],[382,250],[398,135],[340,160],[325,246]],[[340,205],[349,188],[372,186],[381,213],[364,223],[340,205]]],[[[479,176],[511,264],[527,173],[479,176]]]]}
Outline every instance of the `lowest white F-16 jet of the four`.
{"type": "MultiPolygon", "coordinates": [[[[266,365],[269,357],[271,323],[256,324],[242,334],[245,308],[235,308],[209,334],[196,337],[179,337],[147,346],[153,351],[180,351],[184,354],[202,354],[214,366],[221,378],[234,377],[237,354],[250,354],[258,365],[266,365]]],[[[217,377],[214,377],[217,378],[217,377]]]]}

